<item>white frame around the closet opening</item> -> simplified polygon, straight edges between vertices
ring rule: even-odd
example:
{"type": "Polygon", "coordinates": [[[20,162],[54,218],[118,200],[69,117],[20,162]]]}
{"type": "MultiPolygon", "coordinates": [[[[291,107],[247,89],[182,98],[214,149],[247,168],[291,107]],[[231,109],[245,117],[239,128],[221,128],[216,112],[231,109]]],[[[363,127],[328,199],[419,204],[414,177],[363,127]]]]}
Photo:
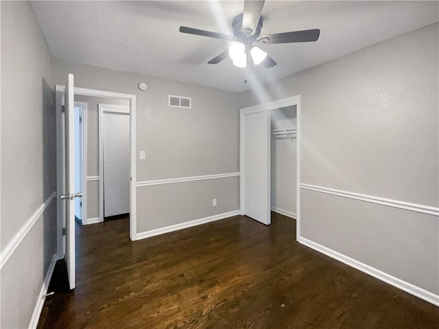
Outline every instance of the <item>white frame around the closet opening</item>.
{"type": "MultiPolygon", "coordinates": [[[[244,189],[244,179],[246,177],[246,172],[244,170],[244,115],[248,115],[251,113],[257,113],[257,112],[268,112],[268,137],[271,137],[270,132],[270,121],[271,121],[271,111],[280,109],[287,106],[296,106],[296,113],[297,113],[297,151],[296,151],[296,240],[300,237],[300,95],[295,95],[287,98],[282,98],[280,100],[274,100],[272,102],[266,102],[263,104],[258,104],[254,106],[248,106],[239,111],[239,166],[240,166],[240,172],[241,175],[239,177],[239,200],[240,200],[240,211],[241,215],[244,215],[246,210],[246,205],[244,202],[244,196],[245,196],[245,189],[244,189]]],[[[271,153],[270,153],[270,141],[268,141],[268,168],[270,168],[271,163],[271,153]]],[[[270,193],[270,183],[271,183],[271,174],[268,172],[268,193],[270,193]]],[[[270,208],[270,194],[268,197],[268,211],[271,211],[270,208]]]]}

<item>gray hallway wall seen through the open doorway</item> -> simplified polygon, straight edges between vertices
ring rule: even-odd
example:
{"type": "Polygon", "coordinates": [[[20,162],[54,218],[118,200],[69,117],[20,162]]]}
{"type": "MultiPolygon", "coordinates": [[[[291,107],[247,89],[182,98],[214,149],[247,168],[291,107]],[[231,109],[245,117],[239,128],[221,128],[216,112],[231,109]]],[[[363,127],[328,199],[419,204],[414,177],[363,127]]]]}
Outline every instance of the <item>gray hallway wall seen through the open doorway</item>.
{"type": "MultiPolygon", "coordinates": [[[[128,100],[75,95],[75,102],[87,103],[87,172],[99,176],[99,104],[130,106],[128,100]]],[[[99,217],[99,181],[87,182],[87,218],[99,217]]]]}

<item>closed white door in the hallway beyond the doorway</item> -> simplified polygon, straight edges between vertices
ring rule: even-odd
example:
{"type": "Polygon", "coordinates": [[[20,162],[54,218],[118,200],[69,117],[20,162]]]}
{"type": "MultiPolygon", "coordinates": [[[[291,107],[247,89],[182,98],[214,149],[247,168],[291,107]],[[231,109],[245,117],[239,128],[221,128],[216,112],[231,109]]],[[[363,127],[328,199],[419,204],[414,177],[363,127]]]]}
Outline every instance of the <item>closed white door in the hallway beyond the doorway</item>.
{"type": "Polygon", "coordinates": [[[104,216],[130,212],[130,115],[102,113],[104,216]]]}

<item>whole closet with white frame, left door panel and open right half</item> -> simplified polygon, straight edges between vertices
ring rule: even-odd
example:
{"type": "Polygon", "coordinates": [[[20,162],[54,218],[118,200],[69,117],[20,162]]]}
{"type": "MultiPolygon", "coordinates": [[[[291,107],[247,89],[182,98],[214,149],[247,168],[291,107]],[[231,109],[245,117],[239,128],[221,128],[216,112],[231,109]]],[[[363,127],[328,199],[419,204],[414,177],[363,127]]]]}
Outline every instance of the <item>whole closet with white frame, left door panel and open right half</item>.
{"type": "Polygon", "coordinates": [[[300,95],[241,109],[241,215],[270,225],[296,219],[300,237],[300,95]]]}

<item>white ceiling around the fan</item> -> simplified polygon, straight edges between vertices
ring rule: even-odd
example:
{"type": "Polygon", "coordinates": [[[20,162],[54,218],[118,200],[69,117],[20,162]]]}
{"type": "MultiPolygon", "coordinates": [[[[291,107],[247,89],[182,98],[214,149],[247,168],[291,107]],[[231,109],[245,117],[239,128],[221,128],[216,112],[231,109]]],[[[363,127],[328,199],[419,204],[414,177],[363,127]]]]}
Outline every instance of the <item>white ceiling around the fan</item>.
{"type": "Polygon", "coordinates": [[[180,25],[232,34],[244,1],[32,1],[52,56],[118,71],[244,91],[439,21],[438,1],[265,1],[261,34],[320,29],[315,43],[260,45],[278,63],[239,69],[207,61],[227,42],[180,25]]]}

